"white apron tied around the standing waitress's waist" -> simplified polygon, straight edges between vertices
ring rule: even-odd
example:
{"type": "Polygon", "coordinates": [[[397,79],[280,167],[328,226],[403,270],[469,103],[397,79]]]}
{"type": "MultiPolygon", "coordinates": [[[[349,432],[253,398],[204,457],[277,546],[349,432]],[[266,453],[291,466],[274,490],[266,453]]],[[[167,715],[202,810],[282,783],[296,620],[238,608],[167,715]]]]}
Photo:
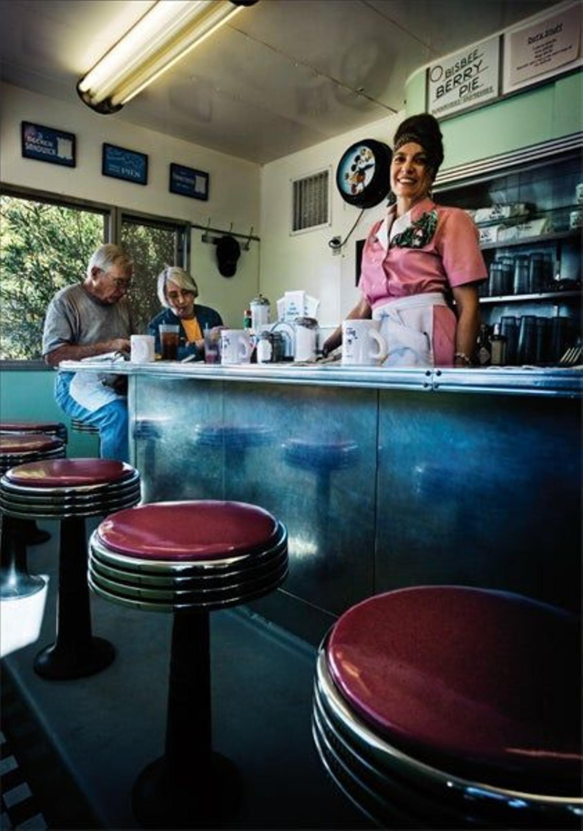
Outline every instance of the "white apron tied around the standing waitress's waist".
{"type": "Polygon", "coordinates": [[[399,297],[373,312],[380,320],[388,356],[383,366],[434,366],[434,306],[447,306],[443,294],[399,297]]]}

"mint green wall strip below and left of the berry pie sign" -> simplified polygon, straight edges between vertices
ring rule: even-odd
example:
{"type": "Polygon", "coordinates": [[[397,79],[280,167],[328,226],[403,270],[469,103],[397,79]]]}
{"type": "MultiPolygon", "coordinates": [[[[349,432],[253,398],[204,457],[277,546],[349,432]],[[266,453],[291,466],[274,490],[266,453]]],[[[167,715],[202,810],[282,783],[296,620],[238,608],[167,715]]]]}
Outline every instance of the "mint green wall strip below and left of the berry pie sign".
{"type": "MultiPolygon", "coordinates": [[[[425,70],[407,81],[406,101],[408,116],[424,112],[425,70]]],[[[443,170],[576,133],[583,128],[582,101],[583,71],[576,71],[444,120],[443,170]]]]}

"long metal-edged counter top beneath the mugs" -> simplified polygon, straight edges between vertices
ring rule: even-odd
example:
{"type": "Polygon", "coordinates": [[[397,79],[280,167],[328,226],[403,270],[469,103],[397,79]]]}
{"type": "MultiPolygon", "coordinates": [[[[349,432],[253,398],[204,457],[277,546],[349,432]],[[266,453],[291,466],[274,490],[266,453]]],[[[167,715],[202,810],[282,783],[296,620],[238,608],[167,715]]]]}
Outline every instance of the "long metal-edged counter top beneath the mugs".
{"type": "Polygon", "coordinates": [[[120,375],[198,378],[324,386],[496,392],[508,395],[580,397],[583,367],[489,366],[487,368],[341,366],[340,363],[239,364],[202,362],[62,361],[61,371],[115,372],[120,375]]]}

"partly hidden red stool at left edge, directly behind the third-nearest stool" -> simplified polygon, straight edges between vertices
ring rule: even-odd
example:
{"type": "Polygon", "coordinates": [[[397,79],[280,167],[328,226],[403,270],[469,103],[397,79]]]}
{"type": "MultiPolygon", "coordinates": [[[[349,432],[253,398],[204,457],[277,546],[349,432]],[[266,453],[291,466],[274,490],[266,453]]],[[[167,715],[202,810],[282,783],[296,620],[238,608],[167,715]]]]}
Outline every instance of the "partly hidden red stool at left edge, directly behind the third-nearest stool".
{"type": "MultiPolygon", "coordinates": [[[[10,428],[16,422],[2,422],[10,428]]],[[[32,423],[38,426],[40,422],[32,423]]],[[[58,459],[65,455],[65,445],[55,435],[14,430],[0,432],[0,475],[12,467],[41,459],[58,459]]],[[[0,597],[17,600],[40,592],[45,586],[42,577],[28,573],[27,545],[45,543],[51,535],[37,528],[34,520],[12,519],[2,512],[0,539],[0,597]]]]}

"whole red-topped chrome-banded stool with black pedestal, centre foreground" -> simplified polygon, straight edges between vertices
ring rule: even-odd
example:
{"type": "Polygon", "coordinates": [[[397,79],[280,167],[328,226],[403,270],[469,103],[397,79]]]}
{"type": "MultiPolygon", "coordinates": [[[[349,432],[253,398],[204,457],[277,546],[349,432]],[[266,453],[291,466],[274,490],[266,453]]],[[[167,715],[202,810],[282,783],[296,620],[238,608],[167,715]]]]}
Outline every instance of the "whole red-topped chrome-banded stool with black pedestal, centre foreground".
{"type": "Polygon", "coordinates": [[[174,614],[165,752],[142,771],[132,797],[145,827],[208,828],[233,813],[238,772],[212,747],[209,612],[261,597],[286,575],[287,531],[256,505],[145,504],[91,535],[96,593],[174,614]]]}

